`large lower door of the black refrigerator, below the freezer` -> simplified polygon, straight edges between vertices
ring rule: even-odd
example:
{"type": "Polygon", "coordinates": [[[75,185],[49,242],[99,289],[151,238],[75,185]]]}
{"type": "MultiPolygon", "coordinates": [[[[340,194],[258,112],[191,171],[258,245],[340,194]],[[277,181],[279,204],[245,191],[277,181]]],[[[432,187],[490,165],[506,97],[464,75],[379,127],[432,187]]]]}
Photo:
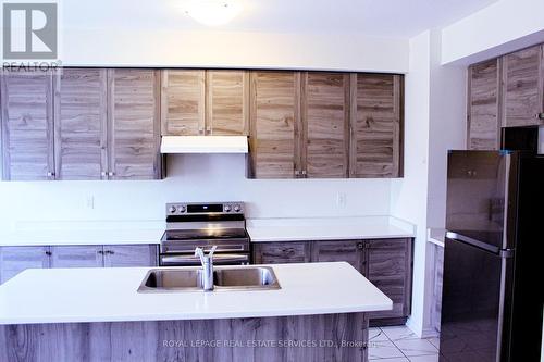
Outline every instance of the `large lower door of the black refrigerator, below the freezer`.
{"type": "Polygon", "coordinates": [[[441,361],[495,362],[508,350],[509,316],[502,311],[510,274],[511,258],[446,238],[441,361]]]}

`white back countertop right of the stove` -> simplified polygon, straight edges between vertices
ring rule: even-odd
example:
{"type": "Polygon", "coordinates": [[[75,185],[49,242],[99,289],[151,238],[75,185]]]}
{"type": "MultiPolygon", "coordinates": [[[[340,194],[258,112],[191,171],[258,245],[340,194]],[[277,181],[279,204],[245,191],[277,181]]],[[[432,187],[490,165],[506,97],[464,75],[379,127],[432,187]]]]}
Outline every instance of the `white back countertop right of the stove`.
{"type": "Polygon", "coordinates": [[[415,226],[392,216],[249,219],[252,242],[413,237],[415,226]]]}

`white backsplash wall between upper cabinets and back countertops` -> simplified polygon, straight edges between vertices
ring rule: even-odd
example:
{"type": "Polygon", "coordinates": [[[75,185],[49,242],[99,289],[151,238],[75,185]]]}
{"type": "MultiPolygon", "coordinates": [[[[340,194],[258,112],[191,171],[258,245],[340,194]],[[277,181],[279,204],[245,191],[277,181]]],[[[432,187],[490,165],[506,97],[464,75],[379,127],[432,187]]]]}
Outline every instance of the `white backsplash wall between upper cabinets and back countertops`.
{"type": "Polygon", "coordinates": [[[32,221],[160,221],[171,201],[243,200],[251,217],[385,215],[390,184],[246,179],[244,155],[174,155],[163,180],[0,183],[0,227],[27,228],[32,221]],[[346,195],[345,205],[337,203],[338,192],[346,195]]]}

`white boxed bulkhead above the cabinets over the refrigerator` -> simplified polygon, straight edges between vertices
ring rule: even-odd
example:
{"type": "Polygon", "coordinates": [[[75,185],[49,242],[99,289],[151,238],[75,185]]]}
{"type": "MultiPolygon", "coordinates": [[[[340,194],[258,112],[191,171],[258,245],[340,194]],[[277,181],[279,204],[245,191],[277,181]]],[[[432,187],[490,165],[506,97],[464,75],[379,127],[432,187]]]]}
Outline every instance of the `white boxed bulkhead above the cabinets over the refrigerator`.
{"type": "Polygon", "coordinates": [[[442,30],[442,64],[467,65],[543,42],[542,14],[542,0],[499,0],[442,30]]]}

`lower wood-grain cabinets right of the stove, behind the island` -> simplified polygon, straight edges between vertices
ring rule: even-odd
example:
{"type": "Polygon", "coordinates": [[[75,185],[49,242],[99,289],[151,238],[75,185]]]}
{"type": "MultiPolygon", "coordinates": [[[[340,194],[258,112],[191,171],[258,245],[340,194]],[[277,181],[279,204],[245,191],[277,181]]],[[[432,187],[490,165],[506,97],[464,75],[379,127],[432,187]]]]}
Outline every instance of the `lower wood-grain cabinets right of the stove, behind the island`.
{"type": "Polygon", "coordinates": [[[410,315],[412,239],[255,242],[254,263],[345,261],[393,300],[393,310],[370,313],[373,326],[401,325],[410,315]]]}

